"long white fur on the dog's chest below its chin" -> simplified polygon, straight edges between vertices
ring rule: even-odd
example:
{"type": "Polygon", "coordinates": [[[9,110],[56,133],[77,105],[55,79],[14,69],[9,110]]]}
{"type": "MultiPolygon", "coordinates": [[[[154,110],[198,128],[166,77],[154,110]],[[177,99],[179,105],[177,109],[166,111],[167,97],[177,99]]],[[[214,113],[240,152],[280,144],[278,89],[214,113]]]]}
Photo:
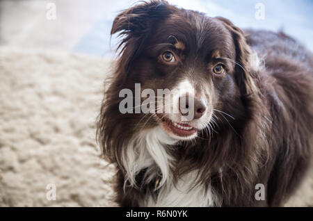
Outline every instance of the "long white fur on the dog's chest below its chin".
{"type": "Polygon", "coordinates": [[[204,186],[195,186],[197,171],[185,174],[175,186],[173,185],[170,174],[172,157],[168,155],[166,148],[176,142],[177,140],[170,138],[158,126],[138,134],[125,148],[122,163],[127,170],[126,179],[131,186],[136,186],[136,174],[144,168],[148,168],[144,181],[146,183],[150,183],[157,175],[156,166],[161,170],[162,178],[157,199],[147,194],[141,206],[217,206],[211,188],[206,190],[204,186]]]}

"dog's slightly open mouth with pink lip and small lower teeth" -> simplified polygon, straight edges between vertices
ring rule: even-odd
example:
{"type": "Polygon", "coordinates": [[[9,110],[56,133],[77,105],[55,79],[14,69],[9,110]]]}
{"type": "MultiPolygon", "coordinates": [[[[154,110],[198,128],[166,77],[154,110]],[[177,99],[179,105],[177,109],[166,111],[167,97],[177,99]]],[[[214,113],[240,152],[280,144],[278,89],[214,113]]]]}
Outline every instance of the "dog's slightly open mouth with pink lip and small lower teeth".
{"type": "Polygon", "coordinates": [[[197,133],[198,129],[195,129],[190,124],[183,124],[179,122],[173,122],[168,117],[165,116],[159,116],[159,119],[161,120],[160,124],[164,131],[169,133],[170,135],[174,134],[175,136],[178,136],[179,138],[193,138],[197,133]]]}

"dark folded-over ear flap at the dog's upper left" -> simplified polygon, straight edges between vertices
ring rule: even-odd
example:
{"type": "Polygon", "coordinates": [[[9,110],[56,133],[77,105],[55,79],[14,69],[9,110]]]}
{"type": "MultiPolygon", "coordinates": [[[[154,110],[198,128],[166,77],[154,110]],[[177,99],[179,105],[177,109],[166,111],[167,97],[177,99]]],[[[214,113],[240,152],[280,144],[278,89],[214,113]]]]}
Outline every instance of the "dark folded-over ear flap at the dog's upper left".
{"type": "Polygon", "coordinates": [[[153,27],[155,22],[168,15],[168,2],[163,0],[144,1],[122,11],[115,17],[111,35],[122,31],[120,35],[142,35],[153,27]]]}

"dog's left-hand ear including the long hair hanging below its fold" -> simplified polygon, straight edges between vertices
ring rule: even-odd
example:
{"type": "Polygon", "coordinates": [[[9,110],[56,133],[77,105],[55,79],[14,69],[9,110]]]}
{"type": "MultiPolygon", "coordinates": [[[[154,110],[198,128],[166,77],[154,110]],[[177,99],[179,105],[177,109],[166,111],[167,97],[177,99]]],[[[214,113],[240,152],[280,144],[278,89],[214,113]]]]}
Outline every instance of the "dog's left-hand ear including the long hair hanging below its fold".
{"type": "Polygon", "coordinates": [[[131,69],[134,60],[141,54],[143,45],[153,28],[170,15],[172,6],[167,1],[144,1],[132,8],[124,10],[115,17],[111,35],[118,33],[122,36],[118,49],[122,54],[118,69],[120,74],[125,74],[131,69]]]}

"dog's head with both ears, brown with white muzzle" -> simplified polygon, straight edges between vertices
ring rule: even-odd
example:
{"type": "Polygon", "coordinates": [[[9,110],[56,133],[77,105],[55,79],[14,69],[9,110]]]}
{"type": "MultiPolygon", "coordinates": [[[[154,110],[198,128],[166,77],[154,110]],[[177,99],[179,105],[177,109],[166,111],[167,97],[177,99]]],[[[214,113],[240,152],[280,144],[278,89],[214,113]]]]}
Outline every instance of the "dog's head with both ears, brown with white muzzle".
{"type": "Polygon", "coordinates": [[[152,1],[118,15],[112,33],[118,31],[126,35],[122,77],[155,94],[155,114],[145,126],[190,140],[209,130],[216,113],[239,111],[240,96],[249,92],[250,54],[242,31],[228,20],[152,1]]]}

